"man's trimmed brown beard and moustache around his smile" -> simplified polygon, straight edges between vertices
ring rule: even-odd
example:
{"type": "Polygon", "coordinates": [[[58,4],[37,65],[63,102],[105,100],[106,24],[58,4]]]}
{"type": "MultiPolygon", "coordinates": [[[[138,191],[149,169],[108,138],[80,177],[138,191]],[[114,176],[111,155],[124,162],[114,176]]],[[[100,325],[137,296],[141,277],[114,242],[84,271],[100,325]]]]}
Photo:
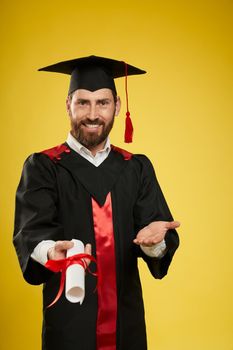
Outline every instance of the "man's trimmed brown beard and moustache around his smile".
{"type": "Polygon", "coordinates": [[[92,149],[107,139],[110,131],[112,130],[113,124],[114,124],[114,119],[115,119],[114,116],[115,116],[115,113],[114,113],[111,121],[108,122],[107,124],[105,124],[99,118],[96,118],[95,120],[90,120],[90,119],[86,118],[85,120],[82,120],[78,124],[71,119],[71,134],[83,146],[85,146],[88,149],[92,149]],[[102,125],[102,132],[99,135],[97,135],[97,133],[88,133],[85,130],[83,130],[83,128],[82,128],[83,124],[102,125]]]}

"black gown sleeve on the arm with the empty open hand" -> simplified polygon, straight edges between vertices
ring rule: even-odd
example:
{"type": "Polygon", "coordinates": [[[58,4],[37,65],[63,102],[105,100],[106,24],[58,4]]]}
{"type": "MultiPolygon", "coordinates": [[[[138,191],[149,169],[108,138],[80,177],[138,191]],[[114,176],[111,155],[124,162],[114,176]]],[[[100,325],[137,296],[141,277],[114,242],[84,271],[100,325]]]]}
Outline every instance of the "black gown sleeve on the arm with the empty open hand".
{"type": "MultiPolygon", "coordinates": [[[[172,221],[166,200],[157,181],[150,160],[143,155],[137,156],[141,163],[141,186],[134,207],[134,222],[136,233],[153,221],[172,221]]],[[[163,278],[179,246],[176,230],[168,230],[165,236],[166,254],[162,258],[151,258],[138,249],[138,255],[147,263],[155,278],[163,278]]]]}

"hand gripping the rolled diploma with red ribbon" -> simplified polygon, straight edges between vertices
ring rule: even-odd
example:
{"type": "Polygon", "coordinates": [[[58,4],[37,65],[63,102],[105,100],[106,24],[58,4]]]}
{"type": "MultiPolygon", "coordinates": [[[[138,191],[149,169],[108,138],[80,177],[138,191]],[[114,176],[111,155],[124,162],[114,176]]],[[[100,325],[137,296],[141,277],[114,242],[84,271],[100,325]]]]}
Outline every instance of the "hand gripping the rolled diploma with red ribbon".
{"type": "MultiPolygon", "coordinates": [[[[54,247],[48,250],[48,259],[49,260],[59,260],[66,258],[66,252],[68,249],[72,248],[74,243],[72,241],[57,241],[54,247]]],[[[91,244],[87,244],[84,249],[85,254],[91,255],[91,244]]],[[[85,259],[89,265],[90,261],[85,259]]]]}

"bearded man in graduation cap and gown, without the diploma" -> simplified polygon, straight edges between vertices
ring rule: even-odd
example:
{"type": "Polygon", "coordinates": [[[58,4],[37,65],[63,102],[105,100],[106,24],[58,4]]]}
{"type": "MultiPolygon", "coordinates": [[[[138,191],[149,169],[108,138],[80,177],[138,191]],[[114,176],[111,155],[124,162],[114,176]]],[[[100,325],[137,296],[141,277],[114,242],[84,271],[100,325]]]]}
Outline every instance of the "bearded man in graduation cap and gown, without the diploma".
{"type": "Polygon", "coordinates": [[[71,74],[68,139],[26,160],[16,197],[14,244],[23,275],[31,284],[44,283],[43,350],[146,350],[137,258],[155,278],[164,277],[179,244],[179,223],[148,158],[108,138],[120,111],[113,78],[145,72],[96,56],[42,70],[71,74]],[[60,274],[44,265],[65,258],[73,238],[96,257],[97,291],[87,274],[82,305],[63,293],[47,308],[60,274]]]}

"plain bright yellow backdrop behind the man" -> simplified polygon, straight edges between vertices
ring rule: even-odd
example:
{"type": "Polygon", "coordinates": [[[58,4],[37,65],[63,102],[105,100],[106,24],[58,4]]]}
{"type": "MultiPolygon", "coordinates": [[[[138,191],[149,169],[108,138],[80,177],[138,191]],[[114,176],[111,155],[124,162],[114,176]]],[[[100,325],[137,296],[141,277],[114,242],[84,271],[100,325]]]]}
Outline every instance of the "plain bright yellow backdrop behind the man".
{"type": "Polygon", "coordinates": [[[41,287],[23,281],[13,250],[14,194],[24,159],[69,130],[68,77],[36,70],[89,54],[147,70],[129,78],[134,143],[122,142],[122,79],[111,141],[151,158],[182,222],[168,276],[140,265],[149,350],[233,349],[232,10],[231,0],[1,1],[1,349],[40,349],[41,287]]]}

